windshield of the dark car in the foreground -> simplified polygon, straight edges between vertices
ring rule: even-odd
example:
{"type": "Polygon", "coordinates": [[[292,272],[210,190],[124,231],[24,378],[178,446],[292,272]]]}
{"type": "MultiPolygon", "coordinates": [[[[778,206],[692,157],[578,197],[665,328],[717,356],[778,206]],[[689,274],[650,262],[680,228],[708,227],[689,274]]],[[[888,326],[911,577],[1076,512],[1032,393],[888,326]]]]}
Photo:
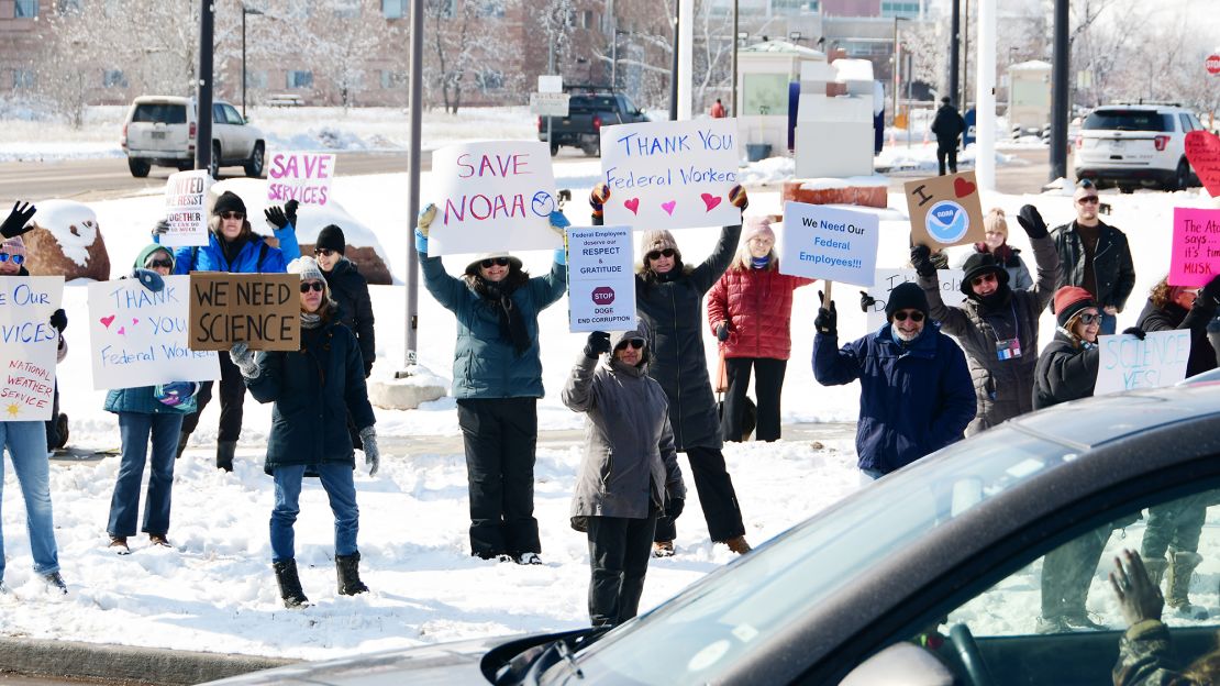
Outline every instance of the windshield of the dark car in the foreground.
{"type": "MultiPolygon", "coordinates": [[[[1070,459],[1074,449],[1011,426],[887,476],[692,585],[577,655],[586,675],[706,684],[834,594],[881,557],[1070,459]]],[[[543,682],[558,677],[554,668],[543,682]]]]}

